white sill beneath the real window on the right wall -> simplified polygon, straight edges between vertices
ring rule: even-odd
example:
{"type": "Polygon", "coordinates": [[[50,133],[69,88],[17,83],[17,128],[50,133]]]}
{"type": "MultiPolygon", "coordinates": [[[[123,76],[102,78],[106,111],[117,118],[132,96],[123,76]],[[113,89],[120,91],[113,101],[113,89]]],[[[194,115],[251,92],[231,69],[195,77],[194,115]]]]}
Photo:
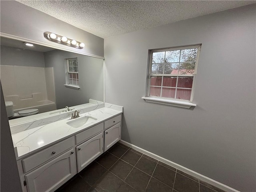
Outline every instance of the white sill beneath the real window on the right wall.
{"type": "Polygon", "coordinates": [[[163,105],[170,105],[176,107],[182,107],[189,109],[192,106],[196,106],[194,103],[186,102],[186,101],[178,101],[178,100],[169,100],[165,98],[155,98],[155,97],[142,97],[146,102],[158,103],[163,105]]]}

